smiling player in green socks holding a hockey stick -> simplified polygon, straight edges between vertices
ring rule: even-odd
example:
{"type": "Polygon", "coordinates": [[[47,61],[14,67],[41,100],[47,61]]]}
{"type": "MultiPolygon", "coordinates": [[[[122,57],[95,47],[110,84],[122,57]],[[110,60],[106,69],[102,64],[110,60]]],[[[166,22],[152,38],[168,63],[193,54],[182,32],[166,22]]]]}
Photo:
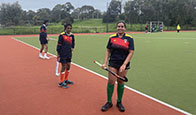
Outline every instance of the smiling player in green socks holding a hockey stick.
{"type": "MultiPolygon", "coordinates": [[[[130,60],[134,52],[133,38],[125,33],[126,24],[123,21],[117,23],[117,33],[110,36],[107,44],[107,50],[105,53],[105,60],[102,68],[106,68],[109,59],[109,70],[118,74],[119,76],[126,76],[128,69],[130,69],[130,60]]],[[[122,105],[122,96],[124,92],[123,81],[116,79],[111,73],[108,73],[108,84],[107,84],[107,103],[102,107],[102,111],[107,111],[112,104],[112,95],[114,90],[114,84],[117,80],[117,104],[121,112],[125,111],[122,105]]]]}

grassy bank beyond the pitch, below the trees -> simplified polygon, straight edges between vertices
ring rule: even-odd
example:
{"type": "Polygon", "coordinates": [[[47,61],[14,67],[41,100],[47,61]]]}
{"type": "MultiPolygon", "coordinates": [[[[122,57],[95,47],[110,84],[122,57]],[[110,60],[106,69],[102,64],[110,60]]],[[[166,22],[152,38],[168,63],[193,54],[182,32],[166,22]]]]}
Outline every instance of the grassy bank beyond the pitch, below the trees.
{"type": "MultiPolygon", "coordinates": [[[[41,25],[40,25],[41,26],[41,25]]],[[[0,28],[0,35],[16,35],[16,34],[39,34],[40,26],[14,26],[0,28]]],[[[144,31],[145,24],[127,24],[127,31],[144,31]]],[[[58,34],[63,31],[64,27],[61,23],[49,23],[47,27],[48,34],[58,34]]],[[[175,30],[176,27],[164,27],[164,30],[175,30]]],[[[183,26],[182,26],[183,29],[183,26]]],[[[185,29],[194,29],[185,28],[185,29]]],[[[74,33],[103,33],[115,32],[116,22],[102,23],[102,19],[86,19],[74,20],[73,30],[74,33]]]]}

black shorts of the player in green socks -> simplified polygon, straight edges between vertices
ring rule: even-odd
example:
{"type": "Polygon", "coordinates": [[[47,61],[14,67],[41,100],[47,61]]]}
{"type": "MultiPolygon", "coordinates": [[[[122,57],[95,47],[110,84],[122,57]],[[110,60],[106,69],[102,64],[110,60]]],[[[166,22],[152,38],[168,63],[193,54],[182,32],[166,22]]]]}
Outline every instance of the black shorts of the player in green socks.
{"type": "MultiPolygon", "coordinates": [[[[110,60],[108,66],[119,70],[123,63],[124,63],[124,61],[122,61],[122,60],[117,60],[117,61],[110,60]]],[[[126,70],[130,69],[130,62],[126,65],[125,69],[126,70]]]]}

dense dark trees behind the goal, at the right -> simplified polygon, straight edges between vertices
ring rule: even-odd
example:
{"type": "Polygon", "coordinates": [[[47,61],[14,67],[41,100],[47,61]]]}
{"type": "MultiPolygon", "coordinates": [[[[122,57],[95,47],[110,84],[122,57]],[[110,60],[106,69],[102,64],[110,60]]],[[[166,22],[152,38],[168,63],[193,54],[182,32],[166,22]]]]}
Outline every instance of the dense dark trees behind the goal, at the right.
{"type": "Polygon", "coordinates": [[[163,21],[165,25],[195,26],[196,0],[132,0],[124,7],[129,23],[163,21]]]}

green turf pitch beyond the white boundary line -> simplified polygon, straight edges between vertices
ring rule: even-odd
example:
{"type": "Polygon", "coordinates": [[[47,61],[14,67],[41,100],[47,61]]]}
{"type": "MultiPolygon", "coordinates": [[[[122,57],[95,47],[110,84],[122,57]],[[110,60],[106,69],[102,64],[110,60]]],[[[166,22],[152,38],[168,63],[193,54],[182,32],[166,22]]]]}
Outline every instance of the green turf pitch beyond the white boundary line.
{"type": "MultiPolygon", "coordinates": [[[[134,38],[135,53],[126,85],[196,114],[196,33],[130,35],[134,38]]],[[[50,38],[57,39],[58,36],[50,38]]],[[[107,76],[107,72],[93,64],[93,60],[103,63],[108,38],[109,35],[76,35],[72,61],[107,76]]],[[[40,48],[38,37],[17,39],[40,48]]],[[[56,40],[49,41],[50,53],[56,54],[56,44],[56,40]]],[[[82,79],[83,76],[78,77],[82,79]]]]}

